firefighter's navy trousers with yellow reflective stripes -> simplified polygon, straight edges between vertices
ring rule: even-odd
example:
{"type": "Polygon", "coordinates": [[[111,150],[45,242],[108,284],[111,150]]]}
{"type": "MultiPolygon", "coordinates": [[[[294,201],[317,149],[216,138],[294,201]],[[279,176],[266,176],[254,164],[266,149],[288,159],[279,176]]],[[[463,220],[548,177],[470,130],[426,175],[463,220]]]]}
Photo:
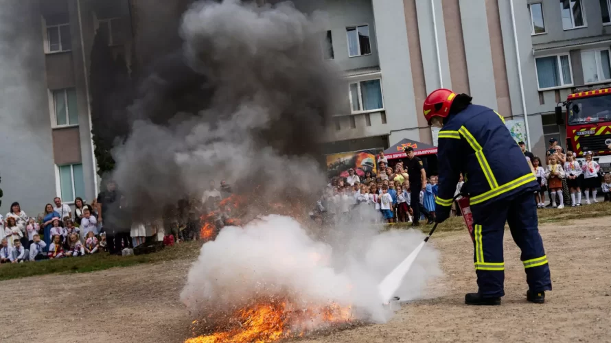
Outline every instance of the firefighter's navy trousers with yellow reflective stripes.
{"type": "Polygon", "coordinates": [[[549,264],[539,235],[537,204],[531,191],[511,200],[471,207],[474,220],[474,263],[479,293],[484,297],[504,296],[505,262],[503,234],[505,222],[511,237],[522,250],[520,259],[532,292],[551,290],[549,264]]]}

